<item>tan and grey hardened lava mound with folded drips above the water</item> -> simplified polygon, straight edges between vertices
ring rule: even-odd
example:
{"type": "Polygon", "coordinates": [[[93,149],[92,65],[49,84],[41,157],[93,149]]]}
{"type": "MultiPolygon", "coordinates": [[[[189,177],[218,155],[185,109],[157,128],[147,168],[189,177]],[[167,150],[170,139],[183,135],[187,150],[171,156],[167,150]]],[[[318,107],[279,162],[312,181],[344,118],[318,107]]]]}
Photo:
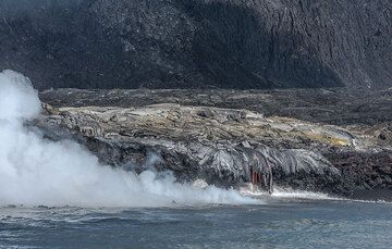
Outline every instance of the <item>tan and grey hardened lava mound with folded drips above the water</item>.
{"type": "MultiPolygon", "coordinates": [[[[358,159],[371,153],[380,160],[377,153],[388,150],[364,128],[265,117],[246,109],[161,103],[45,110],[37,125],[48,137],[73,135],[103,163],[138,172],[154,166],[174,172],[180,180],[203,178],[224,187],[249,183],[253,170],[261,173],[266,190],[279,185],[350,195],[368,188],[372,175],[380,174],[371,160],[368,170],[355,170],[362,165],[358,159]],[[352,161],[343,163],[347,157],[352,161]]],[[[383,163],[390,169],[388,160],[383,163]]],[[[389,175],[370,189],[390,188],[389,175]]]]}

